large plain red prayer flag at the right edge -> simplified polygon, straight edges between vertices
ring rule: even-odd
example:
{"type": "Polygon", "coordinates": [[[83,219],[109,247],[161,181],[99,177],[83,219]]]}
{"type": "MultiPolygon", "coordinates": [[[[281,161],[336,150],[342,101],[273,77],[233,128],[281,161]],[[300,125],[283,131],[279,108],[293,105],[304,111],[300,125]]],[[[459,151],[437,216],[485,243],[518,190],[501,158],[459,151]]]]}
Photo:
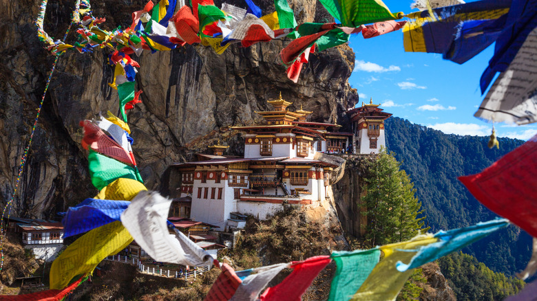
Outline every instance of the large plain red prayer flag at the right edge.
{"type": "Polygon", "coordinates": [[[537,135],[459,181],[487,208],[537,237],[537,135]]]}

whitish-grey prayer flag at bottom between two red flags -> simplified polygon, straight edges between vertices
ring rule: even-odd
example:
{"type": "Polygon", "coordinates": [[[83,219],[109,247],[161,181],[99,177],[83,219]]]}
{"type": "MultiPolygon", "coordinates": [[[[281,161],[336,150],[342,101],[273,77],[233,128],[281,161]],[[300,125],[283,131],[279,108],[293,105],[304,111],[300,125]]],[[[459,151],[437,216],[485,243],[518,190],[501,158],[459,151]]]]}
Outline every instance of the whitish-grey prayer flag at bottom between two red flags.
{"type": "MultiPolygon", "coordinates": [[[[259,293],[268,285],[282,269],[290,267],[288,263],[279,263],[277,265],[269,265],[268,267],[257,267],[248,270],[249,276],[242,278],[242,283],[235,291],[235,295],[231,301],[255,301],[259,293]]],[[[240,277],[240,272],[237,272],[240,277]]]]}

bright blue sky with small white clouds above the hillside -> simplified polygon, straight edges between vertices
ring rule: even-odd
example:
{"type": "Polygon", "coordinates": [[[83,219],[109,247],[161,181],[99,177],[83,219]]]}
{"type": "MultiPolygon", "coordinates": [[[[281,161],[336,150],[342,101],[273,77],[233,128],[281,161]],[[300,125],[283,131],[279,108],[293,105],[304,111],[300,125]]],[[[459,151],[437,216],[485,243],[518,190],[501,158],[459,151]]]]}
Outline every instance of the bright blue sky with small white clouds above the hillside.
{"type": "MultiPolygon", "coordinates": [[[[392,12],[414,12],[412,0],[384,0],[392,12]]],[[[470,1],[467,1],[470,2],[470,1]]],[[[490,135],[492,123],[474,118],[484,96],[479,78],[494,53],[494,44],[463,65],[441,54],[405,52],[401,30],[364,39],[350,37],[356,54],[349,82],[361,101],[381,103],[384,111],[444,133],[490,135]]],[[[500,137],[528,140],[537,125],[496,124],[500,137]]]]}

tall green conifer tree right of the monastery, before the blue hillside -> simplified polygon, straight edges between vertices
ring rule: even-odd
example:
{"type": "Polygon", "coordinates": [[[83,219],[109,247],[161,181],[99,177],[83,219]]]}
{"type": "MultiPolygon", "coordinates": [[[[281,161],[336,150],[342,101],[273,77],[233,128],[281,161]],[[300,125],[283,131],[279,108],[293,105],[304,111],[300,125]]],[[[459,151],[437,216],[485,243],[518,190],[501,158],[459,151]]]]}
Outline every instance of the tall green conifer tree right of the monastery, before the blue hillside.
{"type": "Polygon", "coordinates": [[[421,203],[414,196],[414,184],[385,148],[370,161],[363,189],[366,195],[361,203],[367,207],[364,214],[368,217],[368,244],[405,241],[424,230],[425,216],[418,217],[421,203]]]}

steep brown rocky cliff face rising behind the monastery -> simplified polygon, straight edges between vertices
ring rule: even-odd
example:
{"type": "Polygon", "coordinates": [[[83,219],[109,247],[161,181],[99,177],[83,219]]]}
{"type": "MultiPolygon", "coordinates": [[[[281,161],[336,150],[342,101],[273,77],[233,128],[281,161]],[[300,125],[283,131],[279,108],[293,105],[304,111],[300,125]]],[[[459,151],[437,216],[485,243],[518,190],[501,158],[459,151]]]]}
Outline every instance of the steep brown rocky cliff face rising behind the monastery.
{"type": "MultiPolygon", "coordinates": [[[[245,6],[238,0],[235,5],[245,6]]],[[[36,38],[33,21],[38,0],[0,0],[0,201],[6,203],[14,189],[17,168],[28,143],[35,109],[41,100],[53,57],[36,38]]],[[[264,13],[274,10],[268,0],[257,2],[264,13]]],[[[129,25],[131,12],[144,1],[98,1],[94,15],[105,16],[108,30],[129,25]]],[[[45,30],[63,36],[74,1],[48,3],[45,30]]],[[[217,1],[216,5],[220,5],[217,1]]],[[[317,1],[294,0],[291,6],[299,23],[328,21],[330,16],[317,1]]],[[[71,31],[67,41],[74,41],[71,31]]],[[[130,110],[134,155],[148,188],[157,188],[165,168],[190,159],[193,153],[220,139],[230,153],[241,155],[240,136],[228,126],[260,121],[254,111],[266,110],[267,99],[280,91],[293,102],[313,111],[312,120],[345,124],[344,111],[357,103],[348,85],[354,67],[350,47],[341,45],[310,56],[298,84],[286,78],[280,50],[289,41],[260,43],[249,48],[233,45],[222,55],[200,45],[171,52],[144,52],[133,58],[140,63],[136,76],[143,90],[140,104],[130,110]]],[[[93,54],[68,52],[50,83],[48,95],[30,148],[28,163],[14,202],[21,216],[52,217],[96,190],[91,186],[86,154],[80,146],[78,122],[100,111],[118,113],[118,96],[107,83],[113,69],[107,49],[93,54]]]]}

